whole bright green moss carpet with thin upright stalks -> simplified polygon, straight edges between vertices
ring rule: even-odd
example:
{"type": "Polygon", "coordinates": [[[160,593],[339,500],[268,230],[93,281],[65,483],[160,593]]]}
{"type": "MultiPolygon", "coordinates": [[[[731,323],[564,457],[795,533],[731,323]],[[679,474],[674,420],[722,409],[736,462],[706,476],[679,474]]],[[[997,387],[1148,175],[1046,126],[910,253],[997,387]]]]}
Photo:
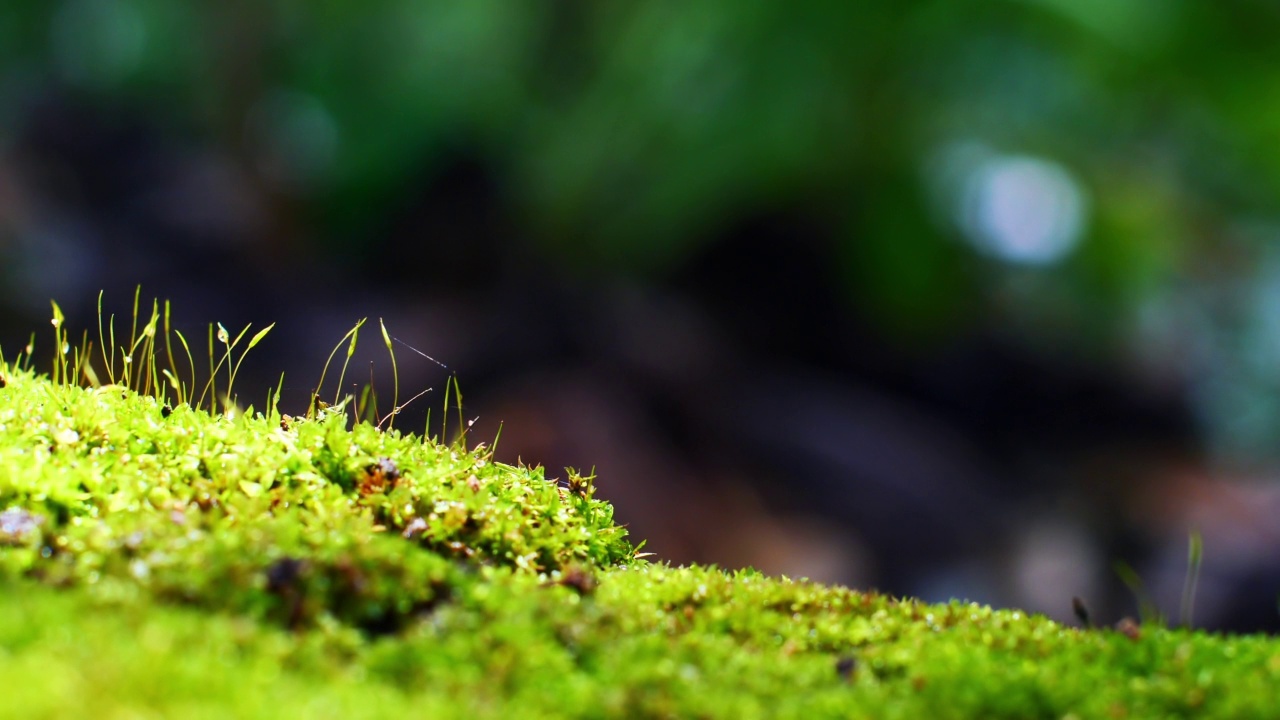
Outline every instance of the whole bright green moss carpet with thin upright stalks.
{"type": "Polygon", "coordinates": [[[50,374],[29,346],[0,357],[3,717],[1280,707],[1267,637],[1070,628],[650,562],[593,478],[404,434],[351,398],[241,410],[248,328],[210,328],[200,383],[168,306],[152,309],[128,338],[108,323],[95,351],[70,347],[55,306],[50,374]]]}

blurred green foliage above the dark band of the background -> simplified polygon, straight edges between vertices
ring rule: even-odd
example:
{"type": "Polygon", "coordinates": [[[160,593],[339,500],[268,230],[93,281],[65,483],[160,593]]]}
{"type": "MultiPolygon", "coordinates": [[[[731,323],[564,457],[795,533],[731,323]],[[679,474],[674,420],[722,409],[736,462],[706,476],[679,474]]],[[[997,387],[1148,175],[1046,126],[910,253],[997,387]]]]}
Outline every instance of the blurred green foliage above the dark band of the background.
{"type": "MultiPolygon", "coordinates": [[[[1260,333],[1280,348],[1240,300],[1280,282],[1254,274],[1280,231],[1277,15],[1248,0],[15,1],[0,133],[9,100],[45,83],[154,108],[256,168],[338,255],[465,145],[527,240],[580,272],[660,275],[777,210],[829,229],[850,300],[886,325],[995,313],[1073,350],[1137,337],[1144,361],[1193,377],[1260,333]],[[1060,252],[966,237],[1007,205],[974,205],[995,177],[979,167],[1068,188],[1075,224],[1043,236],[1060,252]],[[1225,315],[1179,310],[1188,288],[1225,315]],[[1224,341],[1226,325],[1244,331],[1224,341]]],[[[1043,220],[1012,213],[1001,227],[1043,220]]],[[[1251,377],[1280,384],[1267,357],[1251,377]]]]}

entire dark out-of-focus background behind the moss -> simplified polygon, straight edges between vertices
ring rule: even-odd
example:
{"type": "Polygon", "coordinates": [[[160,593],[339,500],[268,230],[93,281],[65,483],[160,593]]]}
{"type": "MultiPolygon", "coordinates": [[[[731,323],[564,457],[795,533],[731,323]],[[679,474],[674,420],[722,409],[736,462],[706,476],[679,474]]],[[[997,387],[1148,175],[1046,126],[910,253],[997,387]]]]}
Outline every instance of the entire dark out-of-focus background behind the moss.
{"type": "Polygon", "coordinates": [[[397,346],[398,427],[454,373],[474,442],[594,466],[662,559],[1114,621],[1114,562],[1176,615],[1201,532],[1196,623],[1274,630],[1277,38],[1248,0],[10,0],[0,347],[141,284],[192,338],[278,322],[237,391],[301,413],[384,318],[449,365],[397,346]]]}

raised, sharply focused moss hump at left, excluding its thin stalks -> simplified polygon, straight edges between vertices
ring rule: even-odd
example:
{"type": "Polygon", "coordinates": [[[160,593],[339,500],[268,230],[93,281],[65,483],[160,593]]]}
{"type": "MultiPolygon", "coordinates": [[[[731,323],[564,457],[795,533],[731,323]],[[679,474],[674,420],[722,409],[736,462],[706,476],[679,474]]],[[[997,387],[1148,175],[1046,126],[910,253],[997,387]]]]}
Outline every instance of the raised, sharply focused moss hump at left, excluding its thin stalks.
{"type": "Polygon", "coordinates": [[[380,634],[466,569],[558,578],[634,555],[590,479],[564,487],[483,447],[348,429],[338,410],[232,419],[118,386],[4,384],[10,577],[380,634]]]}

